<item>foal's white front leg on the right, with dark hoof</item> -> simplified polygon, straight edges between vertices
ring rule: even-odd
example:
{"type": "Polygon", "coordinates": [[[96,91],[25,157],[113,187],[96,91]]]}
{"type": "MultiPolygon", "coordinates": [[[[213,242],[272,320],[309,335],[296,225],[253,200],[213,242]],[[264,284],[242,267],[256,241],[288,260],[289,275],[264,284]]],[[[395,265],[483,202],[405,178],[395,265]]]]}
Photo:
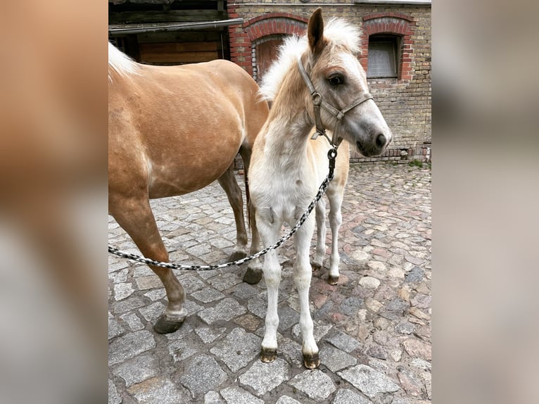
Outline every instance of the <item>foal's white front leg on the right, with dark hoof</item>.
{"type": "Polygon", "coordinates": [[[320,364],[318,346],[313,335],[313,324],[309,307],[309,288],[312,270],[309,263],[309,247],[315,223],[306,220],[295,236],[296,263],[294,263],[293,277],[298,289],[300,300],[300,330],[303,338],[303,363],[307,369],[315,369],[320,364]]]}

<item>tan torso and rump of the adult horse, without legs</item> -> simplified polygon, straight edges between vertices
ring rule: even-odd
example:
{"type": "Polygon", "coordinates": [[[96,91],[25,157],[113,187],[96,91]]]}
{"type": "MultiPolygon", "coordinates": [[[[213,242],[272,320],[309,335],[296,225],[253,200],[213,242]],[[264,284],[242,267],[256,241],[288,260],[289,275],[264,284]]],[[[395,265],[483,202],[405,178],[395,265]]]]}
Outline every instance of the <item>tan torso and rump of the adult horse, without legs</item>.
{"type": "Polygon", "coordinates": [[[151,198],[201,189],[229,168],[266,116],[258,85],[229,61],[139,65],[137,74],[114,76],[109,189],[135,179],[144,179],[151,198]]]}

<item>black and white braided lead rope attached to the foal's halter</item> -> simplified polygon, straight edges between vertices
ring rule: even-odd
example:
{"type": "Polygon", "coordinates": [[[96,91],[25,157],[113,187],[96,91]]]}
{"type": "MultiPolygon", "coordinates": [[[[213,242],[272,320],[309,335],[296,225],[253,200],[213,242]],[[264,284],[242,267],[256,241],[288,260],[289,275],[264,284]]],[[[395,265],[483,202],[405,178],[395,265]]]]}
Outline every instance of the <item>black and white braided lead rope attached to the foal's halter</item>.
{"type": "Polygon", "coordinates": [[[277,241],[277,243],[267,248],[264,248],[258,253],[249,255],[248,257],[245,257],[245,258],[241,258],[240,260],[232,261],[232,263],[224,263],[224,264],[219,264],[219,265],[182,265],[182,264],[175,264],[175,263],[163,263],[162,261],[151,260],[150,258],[144,258],[144,257],[141,257],[140,255],[125,253],[124,251],[118,250],[118,248],[114,248],[113,246],[110,246],[110,244],[108,245],[108,252],[113,255],[118,255],[118,257],[127,258],[128,260],[132,260],[132,261],[137,261],[138,263],[143,263],[147,265],[156,265],[157,267],[171,268],[173,270],[192,270],[192,271],[217,270],[220,268],[232,267],[232,265],[241,265],[248,261],[254,260],[255,258],[259,258],[262,255],[265,255],[266,253],[279,248],[286,240],[290,239],[291,236],[293,236],[293,234],[298,231],[301,225],[303,225],[305,220],[307,220],[307,217],[309,217],[310,213],[315,208],[318,201],[322,199],[322,196],[324,196],[324,194],[326,193],[326,189],[329,186],[329,182],[331,182],[331,180],[334,177],[335,159],[337,157],[336,147],[328,151],[327,157],[329,158],[329,173],[326,179],[324,179],[324,181],[322,182],[322,184],[320,184],[320,187],[318,188],[318,192],[315,198],[312,200],[309,206],[307,206],[307,209],[305,210],[303,215],[300,217],[300,220],[298,220],[298,222],[296,223],[294,227],[292,227],[290,232],[282,236],[281,239],[277,241]]]}

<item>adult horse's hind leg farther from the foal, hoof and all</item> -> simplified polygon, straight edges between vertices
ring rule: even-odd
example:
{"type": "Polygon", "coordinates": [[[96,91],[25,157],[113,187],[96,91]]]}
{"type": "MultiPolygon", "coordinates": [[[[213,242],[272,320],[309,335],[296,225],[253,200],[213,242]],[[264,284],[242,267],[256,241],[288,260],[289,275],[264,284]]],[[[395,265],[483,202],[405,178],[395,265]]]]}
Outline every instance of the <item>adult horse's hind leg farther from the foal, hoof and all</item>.
{"type": "Polygon", "coordinates": [[[236,247],[230,256],[231,261],[239,260],[246,256],[247,251],[247,230],[243,218],[243,198],[241,197],[241,188],[234,177],[234,163],[230,165],[227,171],[217,179],[224,192],[227,194],[228,201],[234,211],[234,220],[236,221],[236,247]]]}

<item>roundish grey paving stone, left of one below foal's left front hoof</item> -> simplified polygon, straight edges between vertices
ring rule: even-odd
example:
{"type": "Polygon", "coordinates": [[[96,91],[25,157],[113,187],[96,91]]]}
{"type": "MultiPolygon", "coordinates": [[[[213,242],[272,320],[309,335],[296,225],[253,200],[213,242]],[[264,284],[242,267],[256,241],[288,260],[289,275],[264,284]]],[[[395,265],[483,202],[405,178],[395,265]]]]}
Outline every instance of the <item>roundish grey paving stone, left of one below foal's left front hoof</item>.
{"type": "Polygon", "coordinates": [[[227,374],[223,372],[219,364],[209,355],[199,355],[193,360],[186,370],[180,381],[191,392],[191,396],[208,393],[210,390],[215,390],[227,379],[227,374]]]}

